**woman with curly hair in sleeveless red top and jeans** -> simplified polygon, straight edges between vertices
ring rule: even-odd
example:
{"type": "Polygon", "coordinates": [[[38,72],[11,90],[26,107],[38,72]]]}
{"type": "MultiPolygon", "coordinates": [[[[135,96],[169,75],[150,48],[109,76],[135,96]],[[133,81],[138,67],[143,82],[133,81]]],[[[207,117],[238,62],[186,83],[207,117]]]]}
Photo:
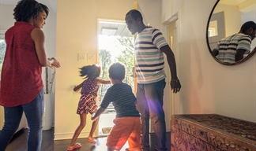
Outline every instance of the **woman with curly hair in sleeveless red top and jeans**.
{"type": "Polygon", "coordinates": [[[35,0],[21,0],[14,8],[14,26],[6,31],[6,56],[2,65],[0,105],[5,123],[0,131],[0,151],[4,151],[21,122],[28,121],[28,151],[39,151],[42,142],[43,80],[42,67],[59,68],[44,49],[48,8],[35,0]]]}

